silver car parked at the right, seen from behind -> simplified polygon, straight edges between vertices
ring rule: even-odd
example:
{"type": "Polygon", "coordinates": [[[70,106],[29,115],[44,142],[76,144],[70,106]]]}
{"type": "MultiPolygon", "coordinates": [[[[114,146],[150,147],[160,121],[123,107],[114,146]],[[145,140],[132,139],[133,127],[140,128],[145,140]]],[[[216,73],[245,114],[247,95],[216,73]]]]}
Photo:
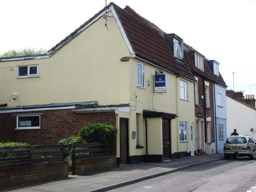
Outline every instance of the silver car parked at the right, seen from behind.
{"type": "Polygon", "coordinates": [[[248,156],[254,160],[256,142],[250,135],[229,136],[224,144],[224,158],[248,156]]]}

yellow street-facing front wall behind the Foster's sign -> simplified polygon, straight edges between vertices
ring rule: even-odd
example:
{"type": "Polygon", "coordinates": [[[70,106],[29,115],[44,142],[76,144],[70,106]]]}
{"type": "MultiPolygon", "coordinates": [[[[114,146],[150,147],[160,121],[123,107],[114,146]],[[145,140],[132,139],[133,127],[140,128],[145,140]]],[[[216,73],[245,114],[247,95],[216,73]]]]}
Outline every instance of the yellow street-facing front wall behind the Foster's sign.
{"type": "MultiPolygon", "coordinates": [[[[165,71],[167,74],[167,93],[154,93],[153,92],[153,75],[155,70],[164,71],[161,68],[148,64],[143,60],[134,58],[133,64],[130,67],[133,71],[130,73],[130,79],[133,82],[130,84],[130,130],[129,136],[132,131],[136,131],[135,115],[142,116],[143,110],[166,112],[177,114],[176,119],[171,122],[171,152],[189,152],[190,151],[190,123],[194,122],[194,82],[184,79],[176,78],[175,74],[165,71]],[[145,87],[140,88],[137,86],[137,62],[145,66],[145,87]],[[188,101],[180,100],[180,79],[188,83],[188,101]],[[150,85],[147,85],[147,80],[150,80],[150,85]],[[134,120],[132,117],[134,116],[134,120]],[[179,140],[179,122],[187,123],[187,142],[180,142],[179,140]]],[[[147,118],[148,120],[148,139],[154,143],[150,145],[148,141],[149,154],[162,154],[162,120],[161,118],[147,118]]],[[[142,129],[145,130],[145,122],[142,129]]],[[[141,128],[141,127],[140,127],[141,128]]],[[[131,138],[131,137],[130,137],[131,138]]],[[[142,149],[136,149],[136,140],[129,140],[130,142],[130,155],[140,155],[142,149]]],[[[146,154],[146,137],[144,136],[144,154],[146,154]]]]}

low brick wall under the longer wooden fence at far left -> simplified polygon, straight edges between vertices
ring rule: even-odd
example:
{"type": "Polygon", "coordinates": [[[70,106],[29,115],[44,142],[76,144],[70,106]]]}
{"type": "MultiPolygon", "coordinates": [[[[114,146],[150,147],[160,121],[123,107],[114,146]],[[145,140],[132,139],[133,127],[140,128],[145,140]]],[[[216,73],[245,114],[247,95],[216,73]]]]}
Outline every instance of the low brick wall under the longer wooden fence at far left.
{"type": "Polygon", "coordinates": [[[68,177],[68,162],[49,162],[0,168],[0,188],[68,177]]]}

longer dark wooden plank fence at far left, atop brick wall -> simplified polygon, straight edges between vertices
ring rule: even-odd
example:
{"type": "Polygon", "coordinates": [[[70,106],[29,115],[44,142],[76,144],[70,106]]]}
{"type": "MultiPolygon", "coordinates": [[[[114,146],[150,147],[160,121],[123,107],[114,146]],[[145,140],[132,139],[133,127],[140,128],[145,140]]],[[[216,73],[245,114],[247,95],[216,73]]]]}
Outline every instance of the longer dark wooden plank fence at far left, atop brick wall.
{"type": "Polygon", "coordinates": [[[0,147],[0,167],[56,161],[62,161],[62,145],[0,147]]]}

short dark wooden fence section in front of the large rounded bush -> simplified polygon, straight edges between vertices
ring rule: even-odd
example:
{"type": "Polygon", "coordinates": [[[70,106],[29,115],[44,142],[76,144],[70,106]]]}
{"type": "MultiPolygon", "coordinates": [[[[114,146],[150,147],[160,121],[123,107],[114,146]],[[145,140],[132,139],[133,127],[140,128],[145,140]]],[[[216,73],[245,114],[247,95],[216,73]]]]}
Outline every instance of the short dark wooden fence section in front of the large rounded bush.
{"type": "Polygon", "coordinates": [[[75,174],[75,160],[103,156],[103,143],[72,143],[72,174],[75,174]]]}

